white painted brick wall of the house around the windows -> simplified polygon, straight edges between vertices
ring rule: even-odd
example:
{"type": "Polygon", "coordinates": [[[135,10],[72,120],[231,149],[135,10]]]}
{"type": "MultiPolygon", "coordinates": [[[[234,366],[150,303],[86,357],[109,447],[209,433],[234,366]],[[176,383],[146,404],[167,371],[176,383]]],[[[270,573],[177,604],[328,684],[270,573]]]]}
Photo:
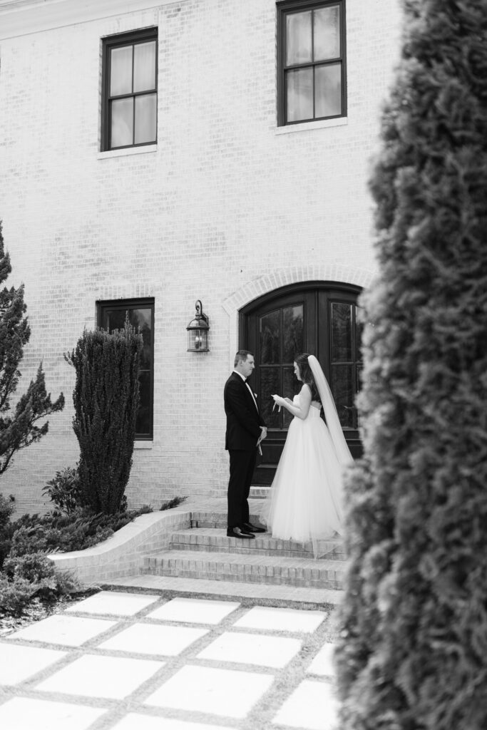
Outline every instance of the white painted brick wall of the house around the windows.
{"type": "Polygon", "coordinates": [[[63,353],[95,325],[96,300],[118,297],[156,300],[155,437],[134,453],[131,504],[225,493],[237,318],[224,303],[267,291],[276,269],[281,283],[333,266],[368,280],[369,158],[398,24],[397,0],[348,0],[348,123],[288,134],[276,134],[273,0],[183,0],[0,41],[0,218],[32,328],[19,392],[42,360],[67,401],[1,477],[19,512],[44,509],[42,486],[77,461],[63,353]],[[157,149],[103,157],[101,37],[154,24],[157,149]],[[199,356],[186,352],[196,299],[210,316],[199,356]]]}

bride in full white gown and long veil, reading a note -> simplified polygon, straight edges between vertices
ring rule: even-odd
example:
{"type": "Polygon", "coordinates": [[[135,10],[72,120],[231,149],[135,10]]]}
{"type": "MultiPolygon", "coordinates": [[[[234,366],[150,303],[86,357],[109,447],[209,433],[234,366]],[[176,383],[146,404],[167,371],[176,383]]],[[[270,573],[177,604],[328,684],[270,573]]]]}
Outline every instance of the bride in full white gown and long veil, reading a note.
{"type": "Polygon", "coordinates": [[[342,469],[353,458],[318,360],[296,356],[294,374],[303,383],[299,395],[272,396],[294,418],[260,517],[272,537],[311,541],[316,555],[318,540],[342,534],[342,469]]]}

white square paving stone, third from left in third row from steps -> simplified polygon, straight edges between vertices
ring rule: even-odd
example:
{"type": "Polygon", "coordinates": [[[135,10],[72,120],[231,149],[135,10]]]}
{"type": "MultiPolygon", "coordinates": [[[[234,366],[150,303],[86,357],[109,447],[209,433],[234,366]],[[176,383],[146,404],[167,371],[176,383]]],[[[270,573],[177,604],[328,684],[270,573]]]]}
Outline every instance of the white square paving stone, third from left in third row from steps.
{"type": "Polygon", "coordinates": [[[245,718],[273,681],[272,675],[256,672],[183,666],[147,697],[145,704],[245,718]]]}

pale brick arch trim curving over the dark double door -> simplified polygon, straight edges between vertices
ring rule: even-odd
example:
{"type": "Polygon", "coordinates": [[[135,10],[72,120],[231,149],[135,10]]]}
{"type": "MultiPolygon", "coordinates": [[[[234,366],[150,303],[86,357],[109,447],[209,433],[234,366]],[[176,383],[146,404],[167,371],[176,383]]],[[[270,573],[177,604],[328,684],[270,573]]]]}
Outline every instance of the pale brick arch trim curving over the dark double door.
{"type": "Polygon", "coordinates": [[[234,355],[239,348],[239,311],[254,299],[290,284],[332,281],[354,284],[367,289],[377,276],[371,269],[358,269],[344,264],[321,264],[316,266],[286,266],[275,269],[242,285],[223,300],[223,309],[230,318],[229,367],[234,366],[234,355]]]}

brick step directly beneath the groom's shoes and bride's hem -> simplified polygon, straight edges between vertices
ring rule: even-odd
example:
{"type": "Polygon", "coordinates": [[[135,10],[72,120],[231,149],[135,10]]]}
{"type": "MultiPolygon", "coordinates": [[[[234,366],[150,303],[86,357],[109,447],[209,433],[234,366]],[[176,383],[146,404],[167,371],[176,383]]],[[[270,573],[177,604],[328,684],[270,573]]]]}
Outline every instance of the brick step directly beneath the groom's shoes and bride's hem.
{"type": "MultiPolygon", "coordinates": [[[[240,555],[276,556],[281,558],[313,558],[311,542],[281,540],[267,533],[257,533],[255,539],[239,540],[227,537],[226,529],[199,528],[174,532],[171,550],[194,550],[215,553],[238,553],[240,555]]],[[[320,559],[345,560],[345,546],[341,539],[319,540],[320,559]]]]}

